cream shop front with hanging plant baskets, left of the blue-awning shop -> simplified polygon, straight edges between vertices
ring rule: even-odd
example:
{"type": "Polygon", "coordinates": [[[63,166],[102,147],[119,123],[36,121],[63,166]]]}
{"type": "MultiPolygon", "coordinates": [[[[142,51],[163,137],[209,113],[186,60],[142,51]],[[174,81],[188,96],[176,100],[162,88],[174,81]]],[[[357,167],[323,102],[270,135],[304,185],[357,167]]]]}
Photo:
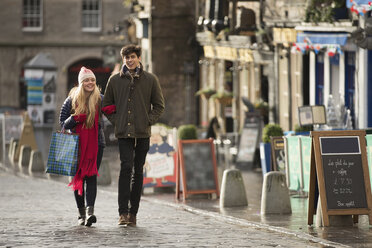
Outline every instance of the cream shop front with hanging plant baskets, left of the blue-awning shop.
{"type": "Polygon", "coordinates": [[[222,134],[238,133],[245,113],[255,111],[254,104],[262,101],[263,66],[254,63],[248,48],[207,45],[203,50],[199,60],[200,125],[207,127],[217,117],[222,134]]]}

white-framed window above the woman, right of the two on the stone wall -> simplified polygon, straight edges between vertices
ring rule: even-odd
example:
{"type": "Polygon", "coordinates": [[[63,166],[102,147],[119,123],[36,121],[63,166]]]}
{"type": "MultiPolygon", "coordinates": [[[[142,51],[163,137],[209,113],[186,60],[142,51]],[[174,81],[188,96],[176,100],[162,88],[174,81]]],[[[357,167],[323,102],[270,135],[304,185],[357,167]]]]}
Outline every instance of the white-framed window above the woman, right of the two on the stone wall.
{"type": "Polygon", "coordinates": [[[101,1],[83,0],[82,29],[86,32],[101,31],[101,1]]]}

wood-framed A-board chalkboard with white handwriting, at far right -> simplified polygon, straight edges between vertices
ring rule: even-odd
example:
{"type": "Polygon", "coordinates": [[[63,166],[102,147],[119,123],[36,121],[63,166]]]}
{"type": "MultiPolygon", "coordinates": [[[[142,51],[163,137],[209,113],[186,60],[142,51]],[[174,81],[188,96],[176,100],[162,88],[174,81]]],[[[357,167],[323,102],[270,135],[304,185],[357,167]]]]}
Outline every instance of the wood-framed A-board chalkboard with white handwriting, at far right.
{"type": "Polygon", "coordinates": [[[329,226],[330,215],[368,215],[371,225],[372,198],[365,131],[314,131],[310,135],[313,146],[308,224],[313,224],[318,188],[324,226],[329,226]]]}

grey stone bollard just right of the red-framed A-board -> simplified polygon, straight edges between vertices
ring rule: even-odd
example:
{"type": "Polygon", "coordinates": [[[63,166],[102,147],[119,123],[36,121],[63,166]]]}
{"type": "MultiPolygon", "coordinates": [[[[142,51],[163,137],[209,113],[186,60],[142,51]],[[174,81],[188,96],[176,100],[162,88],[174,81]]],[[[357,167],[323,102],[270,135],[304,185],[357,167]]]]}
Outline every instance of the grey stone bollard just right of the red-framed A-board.
{"type": "Polygon", "coordinates": [[[221,183],[220,207],[247,206],[242,174],[237,169],[228,169],[223,172],[221,183]]]}

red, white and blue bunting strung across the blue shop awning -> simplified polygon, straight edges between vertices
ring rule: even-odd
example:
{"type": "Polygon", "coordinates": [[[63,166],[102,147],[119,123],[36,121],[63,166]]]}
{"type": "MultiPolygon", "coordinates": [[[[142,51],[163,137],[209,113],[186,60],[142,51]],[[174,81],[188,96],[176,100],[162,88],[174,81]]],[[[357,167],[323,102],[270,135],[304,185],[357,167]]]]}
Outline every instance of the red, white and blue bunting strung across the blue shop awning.
{"type": "Polygon", "coordinates": [[[291,48],[291,53],[301,52],[306,53],[308,51],[314,51],[318,54],[320,51],[325,51],[329,57],[333,57],[336,54],[342,54],[341,46],[335,44],[310,44],[308,42],[304,43],[293,43],[291,48]]]}

